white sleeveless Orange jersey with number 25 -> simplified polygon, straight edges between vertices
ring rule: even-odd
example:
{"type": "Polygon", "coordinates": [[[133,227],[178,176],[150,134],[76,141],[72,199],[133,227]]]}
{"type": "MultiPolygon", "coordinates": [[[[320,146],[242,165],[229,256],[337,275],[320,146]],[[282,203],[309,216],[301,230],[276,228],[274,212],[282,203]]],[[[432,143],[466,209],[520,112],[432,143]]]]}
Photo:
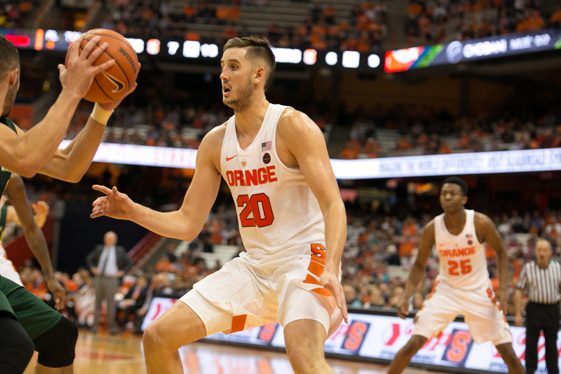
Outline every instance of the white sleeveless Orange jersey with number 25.
{"type": "Polygon", "coordinates": [[[465,226],[458,235],[449,233],[444,213],[434,219],[435,249],[440,260],[438,279],[455,288],[475,290],[489,282],[485,247],[477,240],[472,210],[465,210],[465,226]]]}

